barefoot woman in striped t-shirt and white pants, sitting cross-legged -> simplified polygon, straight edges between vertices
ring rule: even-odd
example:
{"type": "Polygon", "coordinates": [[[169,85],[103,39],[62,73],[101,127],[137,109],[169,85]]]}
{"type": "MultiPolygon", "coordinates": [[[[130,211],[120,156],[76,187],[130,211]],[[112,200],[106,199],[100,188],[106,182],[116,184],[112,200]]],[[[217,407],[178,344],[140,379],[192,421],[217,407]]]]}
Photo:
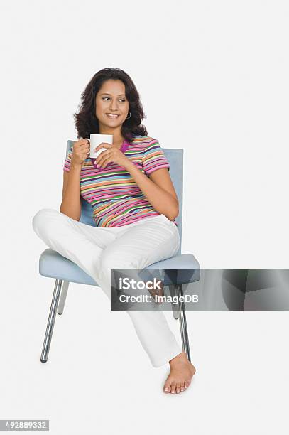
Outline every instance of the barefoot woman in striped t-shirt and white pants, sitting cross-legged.
{"type": "MultiPolygon", "coordinates": [[[[33,229],[48,247],[92,276],[110,298],[111,269],[144,269],[178,252],[178,197],[158,141],[141,125],[138,91],[123,70],[104,68],[96,73],[74,117],[79,140],[63,166],[60,212],[39,210],[33,229]],[[97,159],[89,158],[85,139],[93,133],[113,135],[113,144],[97,146],[106,149],[97,159]],[[79,222],[80,195],[92,205],[95,227],[79,222]]],[[[153,367],[170,364],[163,391],[185,391],[195,367],[163,312],[154,308],[126,313],[153,367]]]]}

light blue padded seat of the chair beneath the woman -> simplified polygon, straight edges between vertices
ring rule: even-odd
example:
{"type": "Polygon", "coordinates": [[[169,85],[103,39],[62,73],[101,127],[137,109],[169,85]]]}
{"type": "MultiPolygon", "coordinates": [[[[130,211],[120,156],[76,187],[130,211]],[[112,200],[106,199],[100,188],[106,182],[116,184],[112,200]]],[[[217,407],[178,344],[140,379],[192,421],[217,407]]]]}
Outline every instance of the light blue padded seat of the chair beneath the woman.
{"type": "MultiPolygon", "coordinates": [[[[164,285],[188,284],[200,279],[200,265],[192,254],[181,254],[176,257],[150,264],[145,269],[165,270],[164,285]]],[[[98,286],[86,272],[53,249],[45,249],[39,259],[39,273],[49,278],[63,279],[78,284],[98,286]]]]}

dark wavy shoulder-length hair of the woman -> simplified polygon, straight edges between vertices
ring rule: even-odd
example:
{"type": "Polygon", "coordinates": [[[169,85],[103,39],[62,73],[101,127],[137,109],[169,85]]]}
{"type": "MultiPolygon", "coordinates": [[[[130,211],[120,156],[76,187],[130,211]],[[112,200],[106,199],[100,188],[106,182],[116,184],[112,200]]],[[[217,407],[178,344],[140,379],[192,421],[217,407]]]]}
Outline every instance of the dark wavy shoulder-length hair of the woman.
{"type": "Polygon", "coordinates": [[[99,122],[95,116],[95,97],[100,87],[106,80],[121,80],[126,88],[126,98],[129,101],[129,112],[131,117],[126,119],[121,126],[121,134],[126,141],[131,141],[133,136],[147,136],[146,127],[141,124],[141,121],[146,118],[143,113],[141,99],[136,90],[131,77],[119,68],[104,68],[99,70],[81,95],[80,110],[73,114],[75,119],[75,128],[77,129],[77,138],[82,139],[89,137],[89,134],[99,133],[99,122]]]}

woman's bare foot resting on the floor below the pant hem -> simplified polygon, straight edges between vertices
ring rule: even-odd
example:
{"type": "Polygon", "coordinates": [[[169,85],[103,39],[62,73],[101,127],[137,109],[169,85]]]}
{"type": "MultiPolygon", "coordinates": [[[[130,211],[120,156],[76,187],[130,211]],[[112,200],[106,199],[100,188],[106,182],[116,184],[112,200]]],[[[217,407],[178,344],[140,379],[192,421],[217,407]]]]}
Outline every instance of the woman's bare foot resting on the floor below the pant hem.
{"type": "Polygon", "coordinates": [[[195,375],[195,367],[187,359],[187,354],[182,350],[170,363],[170,375],[168,375],[163,392],[179,393],[183,392],[190,385],[193,375],[195,375]]]}

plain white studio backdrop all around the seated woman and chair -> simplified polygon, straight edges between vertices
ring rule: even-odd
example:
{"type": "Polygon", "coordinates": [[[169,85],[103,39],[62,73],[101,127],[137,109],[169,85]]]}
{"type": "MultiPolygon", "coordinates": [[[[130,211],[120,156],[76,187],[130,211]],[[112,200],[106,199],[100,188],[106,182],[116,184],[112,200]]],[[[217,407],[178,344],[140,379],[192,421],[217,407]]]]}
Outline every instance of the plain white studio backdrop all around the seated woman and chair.
{"type": "Polygon", "coordinates": [[[41,364],[53,280],[31,226],[59,210],[81,92],[121,68],[148,135],[184,149],[182,252],[207,269],[289,268],[288,2],[0,4],[0,419],[50,419],[53,435],[288,434],[287,311],[190,311],[197,372],[172,396],[129,318],[71,284],[41,364]]]}

